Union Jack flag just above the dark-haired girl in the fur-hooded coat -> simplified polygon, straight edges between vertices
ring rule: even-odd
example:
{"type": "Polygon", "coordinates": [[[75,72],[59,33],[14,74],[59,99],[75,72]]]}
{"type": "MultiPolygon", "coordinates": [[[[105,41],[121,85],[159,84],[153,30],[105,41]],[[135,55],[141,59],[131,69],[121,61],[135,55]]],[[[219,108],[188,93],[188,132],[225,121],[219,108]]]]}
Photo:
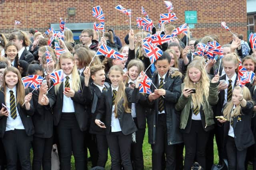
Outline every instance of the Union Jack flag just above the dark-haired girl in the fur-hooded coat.
{"type": "Polygon", "coordinates": [[[152,64],[163,55],[162,50],[152,43],[145,42],[143,48],[152,64]]]}

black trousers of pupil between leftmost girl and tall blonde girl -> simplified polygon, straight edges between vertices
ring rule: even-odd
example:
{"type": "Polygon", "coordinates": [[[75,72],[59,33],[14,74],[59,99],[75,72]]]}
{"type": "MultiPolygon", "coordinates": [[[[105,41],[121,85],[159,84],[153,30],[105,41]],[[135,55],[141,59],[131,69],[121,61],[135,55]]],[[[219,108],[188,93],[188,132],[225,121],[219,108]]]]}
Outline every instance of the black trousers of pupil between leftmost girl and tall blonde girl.
{"type": "Polygon", "coordinates": [[[50,138],[35,137],[32,142],[33,148],[33,170],[51,170],[52,169],[52,145],[53,136],[50,138]]]}

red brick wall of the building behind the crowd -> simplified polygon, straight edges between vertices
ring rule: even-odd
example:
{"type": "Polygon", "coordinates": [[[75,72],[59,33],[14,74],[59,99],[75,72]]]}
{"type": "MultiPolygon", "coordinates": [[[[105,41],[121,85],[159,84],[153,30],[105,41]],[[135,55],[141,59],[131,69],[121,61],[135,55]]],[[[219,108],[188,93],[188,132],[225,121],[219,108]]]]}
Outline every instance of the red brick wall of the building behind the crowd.
{"type": "MultiPolygon", "coordinates": [[[[10,33],[14,29],[14,20],[22,24],[18,29],[35,28],[45,31],[50,23],[58,23],[59,18],[67,18],[67,23],[95,22],[92,7],[100,5],[105,14],[105,28],[114,28],[123,41],[128,33],[128,17],[115,10],[121,4],[132,9],[132,27],[136,27],[136,17],[141,17],[141,6],[144,6],[154,25],[158,26],[159,14],[168,10],[163,0],[1,0],[0,1],[0,33],[10,33]],[[2,2],[2,3],[1,3],[2,2]],[[67,16],[67,8],[75,7],[76,16],[67,16]]],[[[196,10],[198,23],[191,29],[193,37],[200,38],[208,34],[216,34],[220,43],[228,43],[232,36],[220,27],[225,21],[232,32],[243,34],[246,39],[246,0],[172,0],[173,12],[179,18],[173,24],[179,26],[185,22],[184,11],[196,10]]]]}

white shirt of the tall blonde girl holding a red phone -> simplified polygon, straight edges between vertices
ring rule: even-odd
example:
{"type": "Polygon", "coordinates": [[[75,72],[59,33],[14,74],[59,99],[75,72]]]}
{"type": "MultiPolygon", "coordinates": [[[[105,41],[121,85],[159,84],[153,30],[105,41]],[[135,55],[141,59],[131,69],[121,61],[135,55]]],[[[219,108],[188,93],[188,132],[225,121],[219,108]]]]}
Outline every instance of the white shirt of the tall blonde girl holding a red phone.
{"type": "MultiPolygon", "coordinates": [[[[65,91],[66,76],[67,75],[64,73],[63,92],[65,91]]],[[[70,89],[72,89],[72,74],[68,75],[68,77],[69,77],[68,82],[70,84],[70,89]]],[[[75,112],[73,100],[64,94],[63,94],[62,112],[64,112],[64,113],[74,113],[75,112]]]]}

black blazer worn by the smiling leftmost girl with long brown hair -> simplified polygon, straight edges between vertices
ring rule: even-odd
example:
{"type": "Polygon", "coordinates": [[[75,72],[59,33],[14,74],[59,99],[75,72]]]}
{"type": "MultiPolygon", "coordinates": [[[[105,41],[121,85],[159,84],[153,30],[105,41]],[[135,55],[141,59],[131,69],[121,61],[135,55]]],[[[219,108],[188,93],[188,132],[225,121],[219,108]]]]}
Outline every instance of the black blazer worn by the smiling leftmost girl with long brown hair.
{"type": "MultiPolygon", "coordinates": [[[[4,88],[1,88],[0,90],[0,105],[2,107],[2,104],[6,105],[5,101],[4,101],[4,88]]],[[[26,90],[26,94],[28,94],[28,90],[26,90]]],[[[16,94],[18,95],[18,94],[16,94]]],[[[25,107],[21,107],[20,104],[16,103],[17,108],[18,108],[18,112],[20,114],[20,119],[22,121],[22,124],[25,128],[26,134],[28,136],[33,135],[35,132],[34,129],[34,125],[32,122],[32,115],[34,114],[35,108],[33,105],[33,100],[30,100],[30,110],[26,110],[25,107]]],[[[6,122],[7,122],[7,117],[6,116],[2,116],[0,117],[0,137],[3,138],[4,137],[4,133],[6,130],[6,122]]]]}

